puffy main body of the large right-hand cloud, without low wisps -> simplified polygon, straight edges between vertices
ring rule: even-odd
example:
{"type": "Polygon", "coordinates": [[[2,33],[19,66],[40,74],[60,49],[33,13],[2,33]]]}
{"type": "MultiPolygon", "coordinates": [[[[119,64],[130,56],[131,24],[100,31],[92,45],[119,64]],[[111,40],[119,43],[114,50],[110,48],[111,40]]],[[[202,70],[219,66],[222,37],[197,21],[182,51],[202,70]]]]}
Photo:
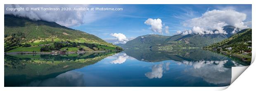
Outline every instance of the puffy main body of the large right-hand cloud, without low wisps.
{"type": "Polygon", "coordinates": [[[244,25],[246,14],[234,10],[212,10],[205,12],[201,17],[185,21],[185,26],[199,26],[214,29],[225,25],[232,25],[241,29],[247,28],[244,25]]]}

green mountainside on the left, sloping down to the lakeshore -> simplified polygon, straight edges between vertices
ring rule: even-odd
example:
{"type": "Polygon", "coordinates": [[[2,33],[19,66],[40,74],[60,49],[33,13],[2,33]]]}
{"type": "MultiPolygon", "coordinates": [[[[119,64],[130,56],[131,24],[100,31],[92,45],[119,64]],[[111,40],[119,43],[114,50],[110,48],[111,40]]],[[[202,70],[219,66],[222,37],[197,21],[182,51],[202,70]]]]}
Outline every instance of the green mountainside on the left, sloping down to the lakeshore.
{"type": "Polygon", "coordinates": [[[71,49],[75,50],[78,49],[78,46],[84,50],[114,50],[117,47],[95,35],[73,30],[55,22],[30,20],[14,15],[5,15],[4,18],[5,52],[10,50],[13,50],[11,52],[40,51],[40,48],[42,48],[40,45],[54,47],[56,46],[53,45],[55,42],[67,43],[63,44],[64,46],[61,48],[73,46],[74,48],[71,49]]]}

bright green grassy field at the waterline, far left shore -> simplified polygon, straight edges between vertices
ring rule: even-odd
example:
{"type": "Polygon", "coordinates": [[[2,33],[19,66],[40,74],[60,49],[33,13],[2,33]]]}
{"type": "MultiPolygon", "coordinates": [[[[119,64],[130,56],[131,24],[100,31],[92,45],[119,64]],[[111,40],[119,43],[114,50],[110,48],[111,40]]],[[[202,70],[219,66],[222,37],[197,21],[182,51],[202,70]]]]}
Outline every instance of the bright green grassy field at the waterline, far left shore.
{"type": "Polygon", "coordinates": [[[40,48],[42,47],[43,46],[18,47],[8,52],[33,52],[33,51],[40,52],[40,48]]]}

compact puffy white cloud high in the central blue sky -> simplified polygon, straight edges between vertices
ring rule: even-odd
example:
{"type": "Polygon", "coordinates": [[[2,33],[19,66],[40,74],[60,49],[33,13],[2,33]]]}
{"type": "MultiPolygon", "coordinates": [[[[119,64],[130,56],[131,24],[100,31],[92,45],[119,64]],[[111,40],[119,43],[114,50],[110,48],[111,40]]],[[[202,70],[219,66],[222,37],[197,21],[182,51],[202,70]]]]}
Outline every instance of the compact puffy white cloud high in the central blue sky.
{"type": "Polygon", "coordinates": [[[146,25],[151,25],[151,30],[153,32],[158,32],[158,33],[162,33],[162,20],[157,18],[157,19],[152,19],[152,18],[148,18],[145,22],[146,25]]]}

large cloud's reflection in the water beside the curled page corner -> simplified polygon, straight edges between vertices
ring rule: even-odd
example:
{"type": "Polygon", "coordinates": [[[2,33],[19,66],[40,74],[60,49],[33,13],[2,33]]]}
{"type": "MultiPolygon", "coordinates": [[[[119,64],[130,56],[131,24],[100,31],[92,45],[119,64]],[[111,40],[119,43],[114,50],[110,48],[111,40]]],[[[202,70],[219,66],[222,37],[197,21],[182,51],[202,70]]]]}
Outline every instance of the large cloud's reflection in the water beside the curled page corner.
{"type": "MultiPolygon", "coordinates": [[[[200,77],[211,84],[230,84],[231,68],[225,68],[228,60],[223,61],[181,61],[178,64],[192,66],[184,72],[194,77],[200,77]]],[[[233,62],[234,63],[234,62],[233,62]]],[[[236,64],[237,65],[237,64],[236,64]]]]}

